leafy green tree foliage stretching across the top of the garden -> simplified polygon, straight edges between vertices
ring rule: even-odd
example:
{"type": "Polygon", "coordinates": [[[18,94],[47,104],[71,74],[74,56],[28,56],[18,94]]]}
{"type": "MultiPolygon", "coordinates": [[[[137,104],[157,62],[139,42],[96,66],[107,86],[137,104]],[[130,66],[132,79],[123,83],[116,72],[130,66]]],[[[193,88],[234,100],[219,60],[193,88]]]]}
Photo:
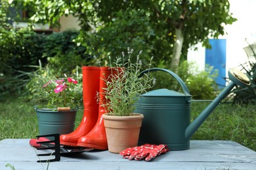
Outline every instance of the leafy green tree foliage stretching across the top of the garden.
{"type": "Polygon", "coordinates": [[[119,50],[130,43],[129,46],[147,51],[151,56],[157,56],[170,64],[177,41],[176,30],[179,29],[184,35],[182,61],[186,58],[188,47],[198,42],[209,47],[209,35],[214,38],[223,35],[224,24],[236,21],[229,12],[228,0],[36,0],[30,3],[34,11],[30,18],[32,22],[58,25],[58,19],[64,14],[76,16],[81,26],[77,41],[91,46],[92,55],[106,60],[110,52],[119,54],[119,50]],[[89,39],[85,38],[88,36],[89,39]]]}

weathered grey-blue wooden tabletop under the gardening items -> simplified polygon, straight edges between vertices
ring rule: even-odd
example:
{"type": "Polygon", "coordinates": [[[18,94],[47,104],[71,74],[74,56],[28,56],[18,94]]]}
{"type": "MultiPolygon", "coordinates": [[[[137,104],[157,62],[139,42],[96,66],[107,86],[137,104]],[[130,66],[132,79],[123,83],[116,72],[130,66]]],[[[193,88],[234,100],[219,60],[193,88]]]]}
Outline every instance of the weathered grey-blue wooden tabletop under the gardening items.
{"type": "MultiPolygon", "coordinates": [[[[7,163],[15,169],[47,169],[46,163],[36,162],[41,152],[30,146],[29,139],[4,139],[0,169],[11,169],[7,163]]],[[[170,151],[150,162],[125,160],[105,150],[61,157],[49,169],[256,169],[256,152],[233,141],[191,141],[190,149],[170,151]]]]}

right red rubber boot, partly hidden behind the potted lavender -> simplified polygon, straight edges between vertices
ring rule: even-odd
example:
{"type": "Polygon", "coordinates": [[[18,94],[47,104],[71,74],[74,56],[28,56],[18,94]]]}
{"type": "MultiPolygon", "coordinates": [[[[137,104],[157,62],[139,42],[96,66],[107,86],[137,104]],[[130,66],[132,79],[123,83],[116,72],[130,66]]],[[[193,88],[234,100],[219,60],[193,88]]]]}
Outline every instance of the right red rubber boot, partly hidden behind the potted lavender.
{"type": "MultiPolygon", "coordinates": [[[[111,69],[110,67],[101,67],[100,77],[107,78],[109,75],[111,75],[111,69]]],[[[104,97],[102,95],[102,88],[106,88],[106,83],[104,80],[100,79],[100,99],[104,97]]],[[[100,102],[102,104],[102,102],[100,102]]],[[[104,127],[104,122],[102,118],[102,114],[106,113],[106,110],[104,107],[98,107],[98,120],[95,124],[95,127],[84,137],[80,137],[77,146],[83,146],[83,147],[89,147],[89,148],[95,148],[99,150],[107,150],[108,149],[108,143],[106,140],[106,131],[104,127]]]]}

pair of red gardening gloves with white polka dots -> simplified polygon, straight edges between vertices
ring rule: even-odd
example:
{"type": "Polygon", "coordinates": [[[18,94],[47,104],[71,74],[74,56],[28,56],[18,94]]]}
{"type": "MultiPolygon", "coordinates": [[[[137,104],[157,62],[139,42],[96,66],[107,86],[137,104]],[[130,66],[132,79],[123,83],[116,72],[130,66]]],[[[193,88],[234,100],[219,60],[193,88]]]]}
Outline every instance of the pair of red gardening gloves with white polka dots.
{"type": "Polygon", "coordinates": [[[156,156],[164,154],[168,151],[169,149],[165,144],[143,144],[142,146],[127,148],[121,151],[119,154],[121,154],[123,158],[127,158],[128,160],[142,160],[143,158],[145,158],[146,161],[150,161],[153,158],[156,158],[156,156]]]}

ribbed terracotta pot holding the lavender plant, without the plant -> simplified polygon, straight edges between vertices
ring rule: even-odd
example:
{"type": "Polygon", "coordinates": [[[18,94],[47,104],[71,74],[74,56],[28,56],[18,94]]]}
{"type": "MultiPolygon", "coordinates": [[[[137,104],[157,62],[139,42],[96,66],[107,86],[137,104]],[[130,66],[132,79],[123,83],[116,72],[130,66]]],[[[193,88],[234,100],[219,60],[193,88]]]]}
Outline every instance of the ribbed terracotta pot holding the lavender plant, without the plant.
{"type": "Polygon", "coordinates": [[[106,129],[108,150],[119,153],[122,150],[137,146],[143,114],[134,116],[108,116],[102,115],[106,129]]]}

